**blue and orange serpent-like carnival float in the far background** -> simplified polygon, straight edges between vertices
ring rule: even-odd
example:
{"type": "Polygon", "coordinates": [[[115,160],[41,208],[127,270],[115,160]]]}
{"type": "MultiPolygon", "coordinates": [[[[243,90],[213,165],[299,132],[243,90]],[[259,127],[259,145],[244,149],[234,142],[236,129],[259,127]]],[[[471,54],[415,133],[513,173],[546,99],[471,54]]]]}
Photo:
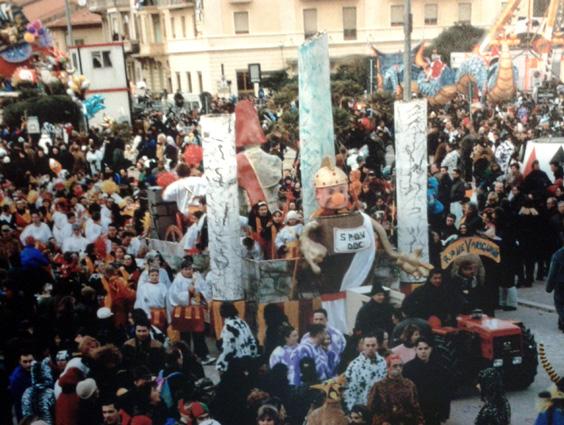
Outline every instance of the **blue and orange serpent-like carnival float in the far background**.
{"type": "MultiPolygon", "coordinates": [[[[517,31],[518,23],[523,20],[516,13],[520,4],[521,0],[508,2],[481,43],[456,71],[435,50],[430,57],[425,56],[429,43],[421,42],[412,51],[411,90],[426,97],[433,106],[444,105],[457,94],[469,95],[469,86],[472,85],[476,89],[473,93],[476,98],[498,104],[512,99],[517,87],[530,88],[528,80],[533,73],[541,79],[553,75],[554,60],[558,57],[562,60],[559,49],[564,43],[564,6],[559,0],[551,0],[539,27],[534,33],[529,28],[523,35],[517,31]],[[521,55],[524,57],[519,70],[522,76],[514,63],[514,58],[521,55]]],[[[525,22],[532,22],[532,19],[525,22]]],[[[378,90],[393,92],[401,98],[404,90],[401,85],[404,72],[402,53],[386,54],[375,47],[372,51],[376,59],[378,90]]],[[[563,68],[560,67],[560,74],[563,68]]],[[[558,77],[562,79],[560,74],[558,77]]]]}

